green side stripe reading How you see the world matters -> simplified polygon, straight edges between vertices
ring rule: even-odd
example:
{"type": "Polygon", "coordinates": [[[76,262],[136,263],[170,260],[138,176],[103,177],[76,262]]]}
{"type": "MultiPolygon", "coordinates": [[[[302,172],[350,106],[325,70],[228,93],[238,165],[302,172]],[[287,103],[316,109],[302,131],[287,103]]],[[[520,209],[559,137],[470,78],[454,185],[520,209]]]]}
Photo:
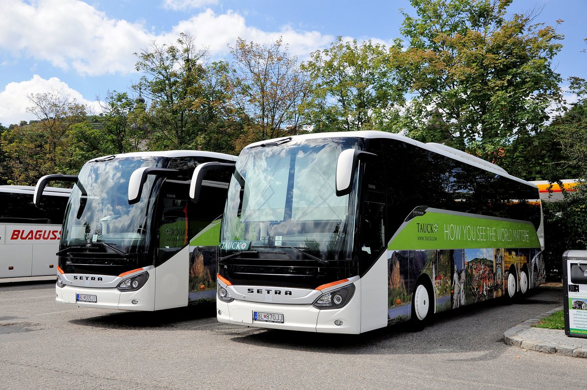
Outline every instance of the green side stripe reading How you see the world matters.
{"type": "Polygon", "coordinates": [[[438,209],[427,209],[404,222],[387,246],[389,250],[539,247],[536,230],[527,221],[438,209]]]}

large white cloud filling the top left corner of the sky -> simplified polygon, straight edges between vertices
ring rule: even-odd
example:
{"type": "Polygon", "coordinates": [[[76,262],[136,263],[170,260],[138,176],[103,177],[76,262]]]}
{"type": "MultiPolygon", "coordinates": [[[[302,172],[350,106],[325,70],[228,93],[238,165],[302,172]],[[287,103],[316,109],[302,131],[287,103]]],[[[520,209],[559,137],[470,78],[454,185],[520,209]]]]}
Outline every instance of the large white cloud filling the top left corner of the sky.
{"type": "Polygon", "coordinates": [[[0,48],[80,75],[130,72],[133,52],[154,38],[144,26],[108,18],[82,1],[0,0],[0,6],[0,48]]]}

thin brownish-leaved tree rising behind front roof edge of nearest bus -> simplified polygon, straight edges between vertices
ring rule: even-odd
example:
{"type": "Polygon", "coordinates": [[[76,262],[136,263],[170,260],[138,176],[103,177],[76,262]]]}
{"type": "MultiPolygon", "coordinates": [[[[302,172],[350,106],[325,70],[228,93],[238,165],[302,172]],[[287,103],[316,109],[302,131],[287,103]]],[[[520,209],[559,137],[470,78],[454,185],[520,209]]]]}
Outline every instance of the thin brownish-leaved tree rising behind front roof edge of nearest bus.
{"type": "Polygon", "coordinates": [[[298,134],[306,125],[302,110],[309,80],[279,38],[261,45],[238,38],[231,48],[235,104],[250,119],[237,149],[250,142],[298,134]]]}

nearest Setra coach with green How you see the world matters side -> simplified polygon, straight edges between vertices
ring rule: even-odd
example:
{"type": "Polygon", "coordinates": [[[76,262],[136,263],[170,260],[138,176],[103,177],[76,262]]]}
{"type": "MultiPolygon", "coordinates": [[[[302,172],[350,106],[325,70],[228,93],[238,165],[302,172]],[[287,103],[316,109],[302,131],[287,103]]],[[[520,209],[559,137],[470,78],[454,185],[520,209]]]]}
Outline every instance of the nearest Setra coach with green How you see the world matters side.
{"type": "Polygon", "coordinates": [[[228,189],[217,318],[358,334],[544,281],[538,189],[392,133],[250,144],[228,189]]]}

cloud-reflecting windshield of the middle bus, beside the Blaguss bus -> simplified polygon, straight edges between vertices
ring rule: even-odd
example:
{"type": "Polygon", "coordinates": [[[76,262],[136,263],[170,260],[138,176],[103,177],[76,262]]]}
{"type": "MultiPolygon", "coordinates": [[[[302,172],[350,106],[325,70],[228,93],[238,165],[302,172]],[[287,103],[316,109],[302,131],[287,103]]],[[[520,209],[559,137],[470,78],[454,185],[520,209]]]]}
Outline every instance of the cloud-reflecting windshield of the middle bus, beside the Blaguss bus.
{"type": "Polygon", "coordinates": [[[63,222],[61,246],[102,243],[122,253],[147,250],[153,214],[153,183],[149,175],[139,203],[129,204],[130,175],[140,167],[162,167],[163,157],[124,157],[86,163],[72,190],[63,222]]]}

